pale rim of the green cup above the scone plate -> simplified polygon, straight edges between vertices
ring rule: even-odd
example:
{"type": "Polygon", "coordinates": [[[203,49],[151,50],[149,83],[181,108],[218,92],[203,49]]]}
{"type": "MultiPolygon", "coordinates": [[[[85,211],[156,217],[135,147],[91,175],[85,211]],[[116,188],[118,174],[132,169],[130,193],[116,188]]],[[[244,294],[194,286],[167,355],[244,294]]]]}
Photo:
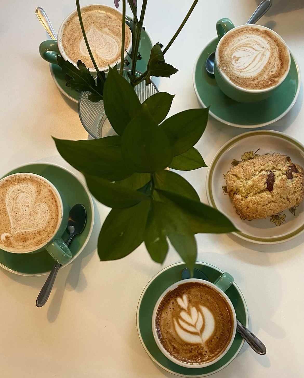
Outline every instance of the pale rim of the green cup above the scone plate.
{"type": "Polygon", "coordinates": [[[287,46],[286,42],[284,41],[284,39],[279,35],[277,34],[275,31],[273,31],[272,29],[270,28],[267,28],[266,26],[263,26],[263,25],[255,25],[255,24],[245,24],[245,25],[239,25],[239,26],[235,26],[235,28],[232,28],[230,29],[227,33],[224,34],[224,36],[219,40],[218,42],[218,45],[216,46],[216,50],[215,50],[215,63],[216,63],[216,66],[218,68],[218,73],[223,77],[224,80],[226,80],[229,85],[231,85],[233,88],[235,89],[238,89],[240,91],[243,91],[243,92],[246,92],[246,93],[266,93],[266,92],[269,92],[271,90],[273,90],[274,88],[278,87],[280,84],[282,84],[282,82],[286,79],[288,73],[289,73],[289,70],[290,70],[290,65],[291,65],[291,56],[290,56],[290,50],[289,50],[289,47],[287,46]],[[232,31],[234,31],[235,29],[240,29],[240,28],[243,28],[244,26],[249,26],[251,28],[258,28],[258,29],[263,29],[263,30],[269,30],[270,33],[273,33],[276,35],[276,37],[281,40],[284,45],[286,46],[287,50],[288,50],[288,56],[289,56],[289,63],[288,63],[288,69],[286,70],[286,72],[284,73],[284,75],[282,76],[281,80],[276,84],[276,85],[273,85],[272,87],[269,87],[269,88],[265,88],[265,89],[246,89],[246,88],[243,88],[243,87],[240,87],[239,85],[236,85],[234,84],[230,79],[229,77],[223,72],[221,71],[221,69],[218,67],[218,47],[219,45],[221,44],[221,41],[223,40],[223,38],[225,38],[228,34],[230,34],[232,31]]]}

